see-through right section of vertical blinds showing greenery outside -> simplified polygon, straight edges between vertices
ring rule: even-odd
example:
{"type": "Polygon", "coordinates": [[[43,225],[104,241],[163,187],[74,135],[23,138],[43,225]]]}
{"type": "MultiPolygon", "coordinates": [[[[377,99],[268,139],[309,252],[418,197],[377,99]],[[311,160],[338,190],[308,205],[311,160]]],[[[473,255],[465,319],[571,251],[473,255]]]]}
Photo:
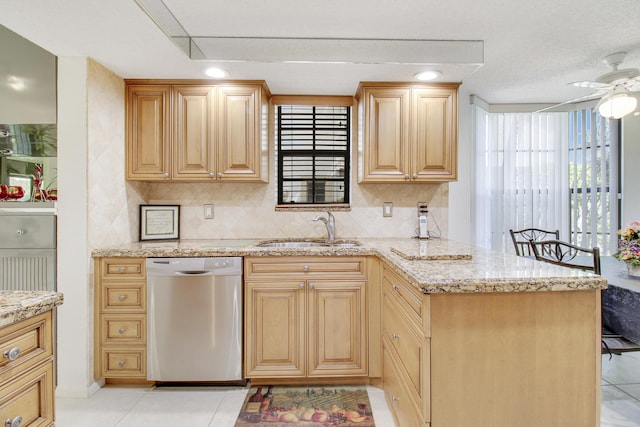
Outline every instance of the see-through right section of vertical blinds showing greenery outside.
{"type": "Polygon", "coordinates": [[[571,242],[603,255],[618,242],[618,123],[588,109],[569,113],[571,242]]]}

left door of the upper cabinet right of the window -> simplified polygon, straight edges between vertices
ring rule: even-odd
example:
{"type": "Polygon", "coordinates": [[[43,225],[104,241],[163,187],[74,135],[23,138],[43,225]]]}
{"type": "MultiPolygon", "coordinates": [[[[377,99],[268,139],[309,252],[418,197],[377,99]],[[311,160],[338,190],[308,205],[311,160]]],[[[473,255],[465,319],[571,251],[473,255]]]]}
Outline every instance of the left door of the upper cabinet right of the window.
{"type": "Polygon", "coordinates": [[[410,95],[406,87],[364,88],[360,182],[408,179],[410,95]]]}

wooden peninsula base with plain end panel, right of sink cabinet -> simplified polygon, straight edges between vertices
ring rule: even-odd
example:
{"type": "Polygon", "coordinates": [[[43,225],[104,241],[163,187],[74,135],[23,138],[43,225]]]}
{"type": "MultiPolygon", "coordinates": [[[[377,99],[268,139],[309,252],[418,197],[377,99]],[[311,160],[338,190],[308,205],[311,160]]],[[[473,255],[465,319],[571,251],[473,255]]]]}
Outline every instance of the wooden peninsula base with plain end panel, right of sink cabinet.
{"type": "Polygon", "coordinates": [[[600,290],[429,295],[384,266],[383,301],[397,425],[597,425],[600,290]]]}

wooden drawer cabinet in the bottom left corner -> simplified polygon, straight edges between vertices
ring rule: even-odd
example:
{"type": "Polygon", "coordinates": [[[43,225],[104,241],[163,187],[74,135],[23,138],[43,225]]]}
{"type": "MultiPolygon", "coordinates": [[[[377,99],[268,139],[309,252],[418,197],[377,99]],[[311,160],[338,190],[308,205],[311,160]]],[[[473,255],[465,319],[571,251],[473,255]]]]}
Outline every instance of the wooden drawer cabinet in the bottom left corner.
{"type": "Polygon", "coordinates": [[[52,323],[52,312],[47,311],[0,329],[3,425],[54,425],[52,323]]]}

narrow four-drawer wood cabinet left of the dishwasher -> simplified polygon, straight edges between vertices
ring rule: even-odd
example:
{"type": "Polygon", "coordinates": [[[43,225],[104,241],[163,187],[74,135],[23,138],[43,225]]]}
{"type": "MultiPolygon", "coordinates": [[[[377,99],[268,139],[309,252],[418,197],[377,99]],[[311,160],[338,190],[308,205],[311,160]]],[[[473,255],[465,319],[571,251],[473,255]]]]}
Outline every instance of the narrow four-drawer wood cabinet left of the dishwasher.
{"type": "Polygon", "coordinates": [[[95,376],[146,380],[145,258],[95,258],[95,376]]]}

